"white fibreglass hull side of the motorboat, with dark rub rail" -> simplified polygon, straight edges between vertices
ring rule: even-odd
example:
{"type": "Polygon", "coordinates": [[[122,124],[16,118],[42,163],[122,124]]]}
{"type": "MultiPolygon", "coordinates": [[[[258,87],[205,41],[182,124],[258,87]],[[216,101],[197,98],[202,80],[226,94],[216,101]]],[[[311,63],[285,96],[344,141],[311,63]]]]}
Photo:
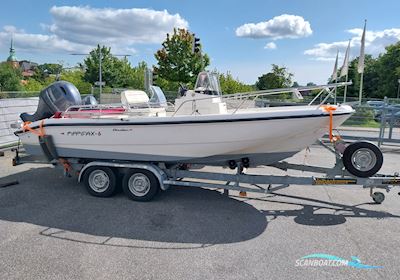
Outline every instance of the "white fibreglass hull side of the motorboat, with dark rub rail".
{"type": "MultiPolygon", "coordinates": [[[[351,112],[336,112],[334,127],[351,112]]],[[[225,165],[247,157],[252,166],[292,156],[326,134],[328,127],[329,114],[316,109],[290,116],[261,111],[134,121],[50,119],[44,125],[58,155],[65,158],[225,165]]],[[[36,135],[17,135],[28,153],[42,154],[36,135]]]]}

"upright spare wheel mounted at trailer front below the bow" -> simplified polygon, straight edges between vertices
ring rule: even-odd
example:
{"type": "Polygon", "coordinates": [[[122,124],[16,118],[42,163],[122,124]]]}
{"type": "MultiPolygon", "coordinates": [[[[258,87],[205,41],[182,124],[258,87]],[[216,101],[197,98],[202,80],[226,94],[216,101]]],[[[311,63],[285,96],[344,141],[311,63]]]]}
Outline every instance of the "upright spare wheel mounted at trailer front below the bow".
{"type": "Polygon", "coordinates": [[[370,142],[354,142],[343,152],[343,165],[357,177],[367,178],[376,174],[382,167],[381,150],[370,142]]]}

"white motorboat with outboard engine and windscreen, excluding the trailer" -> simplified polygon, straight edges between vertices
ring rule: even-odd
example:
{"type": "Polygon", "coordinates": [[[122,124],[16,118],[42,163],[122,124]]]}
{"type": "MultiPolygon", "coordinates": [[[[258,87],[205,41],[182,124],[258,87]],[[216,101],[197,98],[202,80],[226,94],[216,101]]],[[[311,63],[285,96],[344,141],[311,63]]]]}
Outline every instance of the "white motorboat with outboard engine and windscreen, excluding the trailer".
{"type": "MultiPolygon", "coordinates": [[[[335,86],[322,90],[329,92],[335,86]]],[[[76,88],[61,82],[42,92],[42,105],[35,115],[21,116],[25,124],[15,134],[29,154],[43,154],[47,149],[53,157],[86,162],[101,159],[230,165],[244,161],[256,166],[292,156],[326,134],[330,125],[336,128],[354,112],[348,105],[321,104],[242,108],[243,98],[285,91],[293,89],[222,96],[216,76],[203,72],[195,90],[186,91],[176,100],[173,112],[150,103],[140,108],[121,105],[116,110],[76,106],[76,88]],[[236,102],[234,108],[228,108],[229,100],[236,102]],[[70,105],[74,106],[67,109],[70,105]],[[63,113],[54,117],[56,111],[63,113]],[[51,138],[51,147],[40,141],[44,136],[51,138]]]]}

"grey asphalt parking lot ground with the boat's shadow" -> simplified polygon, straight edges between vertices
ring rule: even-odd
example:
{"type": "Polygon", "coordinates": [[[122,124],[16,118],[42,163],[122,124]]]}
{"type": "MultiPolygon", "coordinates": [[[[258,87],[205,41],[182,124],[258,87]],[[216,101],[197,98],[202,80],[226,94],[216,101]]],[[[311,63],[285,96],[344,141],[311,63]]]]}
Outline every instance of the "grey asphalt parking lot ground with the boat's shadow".
{"type": "MultiPolygon", "coordinates": [[[[92,197],[61,170],[12,167],[11,157],[0,158],[0,183],[19,181],[0,188],[1,279],[400,278],[400,189],[381,205],[352,186],[292,186],[247,198],[174,187],[139,203],[121,193],[92,197]],[[296,266],[316,253],[382,267],[296,266]]],[[[290,159],[333,161],[319,146],[290,159]]],[[[400,171],[399,162],[389,150],[381,173],[400,171]]]]}

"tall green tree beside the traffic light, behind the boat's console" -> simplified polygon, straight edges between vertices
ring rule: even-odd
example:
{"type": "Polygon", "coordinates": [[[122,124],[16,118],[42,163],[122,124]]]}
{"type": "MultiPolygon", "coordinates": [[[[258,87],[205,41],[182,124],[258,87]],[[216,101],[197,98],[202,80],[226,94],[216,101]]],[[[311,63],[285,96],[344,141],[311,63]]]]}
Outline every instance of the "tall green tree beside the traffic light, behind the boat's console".
{"type": "Polygon", "coordinates": [[[154,72],[170,82],[194,84],[197,75],[210,63],[207,54],[193,53],[193,35],[186,29],[174,29],[155,53],[154,72]]]}

